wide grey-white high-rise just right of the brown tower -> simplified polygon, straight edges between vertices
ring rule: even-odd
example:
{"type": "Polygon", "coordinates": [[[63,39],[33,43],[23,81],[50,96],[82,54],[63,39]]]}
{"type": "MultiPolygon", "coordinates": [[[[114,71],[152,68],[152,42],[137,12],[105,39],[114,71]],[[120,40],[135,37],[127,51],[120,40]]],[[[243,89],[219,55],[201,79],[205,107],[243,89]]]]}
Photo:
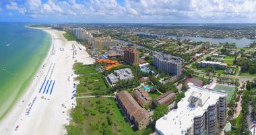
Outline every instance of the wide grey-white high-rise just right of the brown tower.
{"type": "Polygon", "coordinates": [[[168,54],[155,53],[153,56],[153,64],[157,69],[170,75],[180,77],[182,74],[182,60],[174,59],[173,56],[168,54]]]}

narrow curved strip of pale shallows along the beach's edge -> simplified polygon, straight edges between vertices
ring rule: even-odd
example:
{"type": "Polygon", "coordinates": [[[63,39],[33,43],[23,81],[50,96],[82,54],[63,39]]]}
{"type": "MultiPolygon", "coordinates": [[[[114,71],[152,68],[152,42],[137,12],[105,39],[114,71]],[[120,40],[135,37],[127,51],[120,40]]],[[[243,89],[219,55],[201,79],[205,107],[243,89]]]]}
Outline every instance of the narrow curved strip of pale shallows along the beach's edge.
{"type": "MultiPolygon", "coordinates": [[[[40,30],[40,28],[32,28],[32,27],[29,27],[29,26],[24,26],[24,27],[40,30]]],[[[44,30],[42,30],[42,31],[45,32],[44,30]]],[[[46,34],[49,34],[48,32],[45,32],[45,33],[46,33],[46,34]]],[[[50,36],[50,38],[52,38],[50,34],[49,34],[49,36],[50,36]]],[[[51,44],[50,44],[50,46],[49,46],[49,50],[47,50],[47,52],[46,52],[46,56],[43,58],[43,60],[42,60],[42,62],[41,62],[40,64],[36,65],[36,66],[38,66],[38,67],[37,67],[37,69],[35,69],[35,71],[32,73],[32,75],[31,75],[32,77],[31,77],[31,78],[28,78],[28,79],[26,80],[26,81],[28,81],[28,83],[26,83],[26,81],[24,81],[24,83],[22,83],[21,87],[19,88],[20,91],[18,91],[18,93],[20,93],[20,94],[18,94],[18,96],[15,97],[15,99],[13,100],[13,103],[11,103],[11,104],[9,105],[8,109],[5,111],[5,113],[3,113],[2,116],[0,116],[0,124],[1,124],[1,120],[3,120],[3,119],[8,115],[9,111],[11,111],[11,109],[13,109],[13,107],[15,107],[15,106],[18,104],[19,101],[22,101],[22,100],[21,100],[21,97],[26,93],[26,89],[28,89],[29,87],[31,87],[32,81],[34,81],[34,79],[36,79],[35,77],[36,77],[36,75],[38,75],[38,73],[39,73],[39,71],[40,71],[40,67],[42,67],[43,63],[46,61],[46,58],[49,57],[50,50],[52,49],[52,39],[50,39],[50,40],[51,40],[51,44]],[[24,87],[24,88],[22,89],[22,87],[24,87]]]]}

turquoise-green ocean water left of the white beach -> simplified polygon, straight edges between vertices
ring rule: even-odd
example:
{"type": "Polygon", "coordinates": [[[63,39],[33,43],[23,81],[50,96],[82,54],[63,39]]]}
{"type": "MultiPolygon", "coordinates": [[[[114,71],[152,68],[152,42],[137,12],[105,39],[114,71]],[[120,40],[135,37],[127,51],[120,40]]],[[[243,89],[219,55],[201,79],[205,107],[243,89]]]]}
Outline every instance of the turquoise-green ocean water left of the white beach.
{"type": "Polygon", "coordinates": [[[42,30],[0,24],[0,120],[24,93],[50,46],[51,36],[42,30]]]}

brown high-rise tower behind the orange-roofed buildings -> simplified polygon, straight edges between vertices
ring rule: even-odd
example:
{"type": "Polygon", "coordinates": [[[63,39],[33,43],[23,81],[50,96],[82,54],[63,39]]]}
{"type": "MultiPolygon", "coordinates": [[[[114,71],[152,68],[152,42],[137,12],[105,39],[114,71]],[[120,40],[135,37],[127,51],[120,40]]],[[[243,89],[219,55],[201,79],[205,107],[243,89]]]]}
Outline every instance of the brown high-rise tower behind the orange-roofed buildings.
{"type": "Polygon", "coordinates": [[[124,48],[123,58],[126,62],[132,65],[139,64],[139,50],[136,48],[127,47],[124,48]]]}

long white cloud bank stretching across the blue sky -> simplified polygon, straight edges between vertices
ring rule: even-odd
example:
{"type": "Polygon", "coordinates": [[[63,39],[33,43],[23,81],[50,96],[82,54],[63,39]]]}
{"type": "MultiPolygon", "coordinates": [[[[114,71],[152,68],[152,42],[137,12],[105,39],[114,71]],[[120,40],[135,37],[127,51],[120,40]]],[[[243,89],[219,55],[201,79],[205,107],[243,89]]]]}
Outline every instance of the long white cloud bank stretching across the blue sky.
{"type": "MultiPolygon", "coordinates": [[[[173,19],[254,19],[255,0],[15,0],[6,9],[31,17],[78,16],[120,17],[152,20],[173,19]]],[[[1,9],[0,9],[1,11],[1,9]]]]}

